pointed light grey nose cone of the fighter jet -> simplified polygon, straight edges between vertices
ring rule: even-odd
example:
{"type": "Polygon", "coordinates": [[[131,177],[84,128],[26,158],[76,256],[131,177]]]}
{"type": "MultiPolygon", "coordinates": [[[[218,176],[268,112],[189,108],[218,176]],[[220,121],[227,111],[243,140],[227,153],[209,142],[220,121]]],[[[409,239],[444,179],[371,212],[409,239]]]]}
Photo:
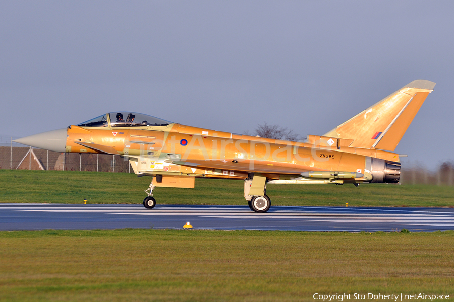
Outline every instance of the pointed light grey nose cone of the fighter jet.
{"type": "Polygon", "coordinates": [[[66,137],[67,134],[65,128],[30,135],[15,139],[13,141],[49,151],[65,152],[66,137]]]}

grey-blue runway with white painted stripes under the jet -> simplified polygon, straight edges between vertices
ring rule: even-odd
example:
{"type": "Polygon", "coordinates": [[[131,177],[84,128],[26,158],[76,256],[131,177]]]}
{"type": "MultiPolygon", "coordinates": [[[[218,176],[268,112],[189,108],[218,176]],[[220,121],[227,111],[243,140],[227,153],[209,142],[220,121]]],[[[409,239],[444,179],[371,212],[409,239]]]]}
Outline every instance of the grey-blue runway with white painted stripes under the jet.
{"type": "Polygon", "coordinates": [[[0,230],[154,228],[375,232],[454,230],[454,208],[0,204],[0,230]]]}

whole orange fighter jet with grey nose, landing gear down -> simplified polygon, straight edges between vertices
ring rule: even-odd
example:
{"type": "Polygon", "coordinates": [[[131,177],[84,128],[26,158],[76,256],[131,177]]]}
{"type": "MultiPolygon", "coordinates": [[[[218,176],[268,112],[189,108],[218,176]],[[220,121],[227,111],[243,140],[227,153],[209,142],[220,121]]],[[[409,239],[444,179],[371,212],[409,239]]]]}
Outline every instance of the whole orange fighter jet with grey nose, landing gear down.
{"type": "Polygon", "coordinates": [[[155,187],[194,188],[196,177],[244,181],[255,212],[268,211],[266,184],[397,183],[394,153],[435,83],[416,80],[324,135],[275,140],[185,126],[133,112],[111,112],[68,128],[15,140],[56,152],[120,155],[155,187]]]}

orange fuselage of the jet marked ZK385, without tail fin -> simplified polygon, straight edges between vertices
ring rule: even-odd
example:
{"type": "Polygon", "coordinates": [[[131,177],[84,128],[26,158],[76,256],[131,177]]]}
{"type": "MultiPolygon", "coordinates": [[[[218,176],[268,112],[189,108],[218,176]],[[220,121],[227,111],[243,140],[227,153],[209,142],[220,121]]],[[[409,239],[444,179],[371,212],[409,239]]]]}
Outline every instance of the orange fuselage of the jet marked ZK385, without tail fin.
{"type": "MultiPolygon", "coordinates": [[[[348,140],[331,137],[308,135],[304,141],[276,140],[160,119],[153,124],[116,122],[113,115],[108,113],[67,129],[37,134],[36,143],[53,143],[51,147],[60,152],[120,155],[131,161],[137,174],[245,179],[254,171],[268,181],[282,183],[370,182],[374,178],[371,165],[374,160],[399,162],[395,153],[352,148],[348,140]],[[56,134],[62,137],[57,139],[56,134]],[[302,177],[303,172],[309,171],[358,174],[331,179],[317,174],[302,177]]],[[[153,118],[137,113],[125,112],[124,115],[153,118]]],[[[27,144],[33,145],[30,141],[27,144]]],[[[38,147],[46,148],[45,145],[38,147]]]]}

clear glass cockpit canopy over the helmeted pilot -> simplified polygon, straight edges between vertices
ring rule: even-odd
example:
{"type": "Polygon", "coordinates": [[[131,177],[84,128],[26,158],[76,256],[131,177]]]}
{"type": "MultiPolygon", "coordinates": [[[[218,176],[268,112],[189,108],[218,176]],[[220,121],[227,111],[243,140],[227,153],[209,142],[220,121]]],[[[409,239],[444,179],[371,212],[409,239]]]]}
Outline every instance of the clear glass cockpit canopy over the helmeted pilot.
{"type": "Polygon", "coordinates": [[[80,123],[79,127],[152,127],[166,126],[172,122],[136,112],[110,112],[80,123]]]}

